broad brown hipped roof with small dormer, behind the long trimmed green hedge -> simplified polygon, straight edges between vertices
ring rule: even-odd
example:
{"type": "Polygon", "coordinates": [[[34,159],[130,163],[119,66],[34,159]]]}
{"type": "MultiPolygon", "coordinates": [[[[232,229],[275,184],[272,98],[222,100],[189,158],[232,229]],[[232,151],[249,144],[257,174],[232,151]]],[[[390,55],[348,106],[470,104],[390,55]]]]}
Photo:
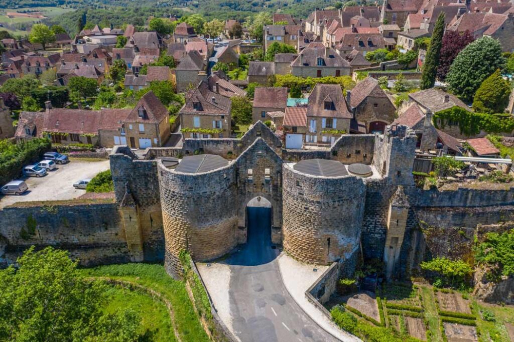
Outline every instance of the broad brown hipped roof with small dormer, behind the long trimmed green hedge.
{"type": "Polygon", "coordinates": [[[318,58],[323,61],[326,67],[350,67],[350,64],[342,58],[333,48],[325,48],[323,43],[310,43],[306,46],[295,61],[292,67],[314,66],[318,67],[318,58]],[[327,53],[328,50],[328,53],[327,53]]]}

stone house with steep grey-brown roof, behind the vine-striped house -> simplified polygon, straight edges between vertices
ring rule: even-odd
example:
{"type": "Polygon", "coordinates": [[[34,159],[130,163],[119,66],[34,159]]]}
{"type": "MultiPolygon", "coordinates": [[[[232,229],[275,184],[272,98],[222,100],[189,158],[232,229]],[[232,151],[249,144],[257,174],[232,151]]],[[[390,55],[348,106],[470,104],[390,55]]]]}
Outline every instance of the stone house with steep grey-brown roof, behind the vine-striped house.
{"type": "Polygon", "coordinates": [[[192,50],[180,61],[175,68],[175,79],[177,93],[186,92],[194,88],[200,81],[207,80],[205,60],[198,53],[192,50]]]}

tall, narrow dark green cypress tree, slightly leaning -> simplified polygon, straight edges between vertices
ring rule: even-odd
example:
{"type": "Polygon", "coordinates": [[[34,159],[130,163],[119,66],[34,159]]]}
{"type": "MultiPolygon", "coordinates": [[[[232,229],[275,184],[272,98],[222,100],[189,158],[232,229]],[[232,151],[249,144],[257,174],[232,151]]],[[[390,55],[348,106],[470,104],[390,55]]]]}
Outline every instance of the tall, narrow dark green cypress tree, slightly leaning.
{"type": "Polygon", "coordinates": [[[421,73],[421,89],[432,88],[435,84],[437,68],[439,67],[439,54],[443,45],[443,34],[445,32],[445,12],[441,11],[435,22],[434,32],[430,40],[430,47],[427,51],[423,72],[421,73]]]}

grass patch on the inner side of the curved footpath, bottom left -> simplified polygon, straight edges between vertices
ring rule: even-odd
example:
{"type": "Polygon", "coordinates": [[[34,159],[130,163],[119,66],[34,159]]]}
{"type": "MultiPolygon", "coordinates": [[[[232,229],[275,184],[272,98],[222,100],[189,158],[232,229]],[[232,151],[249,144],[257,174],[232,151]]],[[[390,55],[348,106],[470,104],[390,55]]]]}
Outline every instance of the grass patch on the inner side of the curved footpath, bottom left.
{"type": "Polygon", "coordinates": [[[109,302],[104,309],[107,313],[116,313],[121,309],[132,309],[139,317],[141,324],[138,328],[139,335],[154,342],[176,341],[173,334],[168,309],[163,303],[154,300],[148,294],[139,291],[131,291],[122,287],[112,287],[108,290],[109,302]]]}

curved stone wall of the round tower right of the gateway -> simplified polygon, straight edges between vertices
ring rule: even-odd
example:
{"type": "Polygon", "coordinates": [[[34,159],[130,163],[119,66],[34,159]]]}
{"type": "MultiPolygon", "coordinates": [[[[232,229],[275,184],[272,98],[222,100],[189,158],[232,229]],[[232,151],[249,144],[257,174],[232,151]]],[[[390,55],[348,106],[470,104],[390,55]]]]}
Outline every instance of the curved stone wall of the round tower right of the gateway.
{"type": "Polygon", "coordinates": [[[365,186],[353,176],[305,175],[283,166],[284,249],[307,263],[350,259],[359,251],[365,186]]]}

